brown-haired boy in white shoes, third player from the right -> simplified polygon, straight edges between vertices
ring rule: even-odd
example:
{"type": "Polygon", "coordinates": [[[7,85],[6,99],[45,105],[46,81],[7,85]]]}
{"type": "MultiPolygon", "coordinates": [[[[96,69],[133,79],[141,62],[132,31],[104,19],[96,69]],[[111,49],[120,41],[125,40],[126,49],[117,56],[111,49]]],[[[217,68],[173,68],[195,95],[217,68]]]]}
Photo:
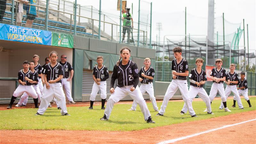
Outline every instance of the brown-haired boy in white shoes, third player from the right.
{"type": "MultiPolygon", "coordinates": [[[[217,92],[219,92],[220,96],[221,96],[221,101],[223,103],[224,106],[224,111],[228,111],[231,112],[231,110],[229,110],[227,108],[227,97],[225,96],[225,91],[224,91],[224,86],[223,86],[223,81],[226,80],[226,76],[227,76],[227,72],[225,69],[223,69],[222,66],[223,62],[221,59],[216,59],[215,60],[215,65],[217,67],[212,69],[211,72],[211,79],[213,80],[212,83],[212,87],[210,90],[210,95],[209,98],[211,100],[211,104],[213,99],[216,97],[217,92]]],[[[204,112],[207,111],[207,108],[204,110],[204,112]]]]}

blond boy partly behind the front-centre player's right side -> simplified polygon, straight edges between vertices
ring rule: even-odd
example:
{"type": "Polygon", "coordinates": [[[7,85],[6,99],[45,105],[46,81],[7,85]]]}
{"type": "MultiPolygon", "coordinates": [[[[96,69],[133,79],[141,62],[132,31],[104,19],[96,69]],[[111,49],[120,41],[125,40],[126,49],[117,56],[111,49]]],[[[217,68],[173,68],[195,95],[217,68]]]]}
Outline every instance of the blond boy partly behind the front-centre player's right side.
{"type": "MultiPolygon", "coordinates": [[[[147,92],[149,95],[149,99],[152,102],[153,108],[155,111],[158,111],[158,107],[156,105],[156,98],[154,96],[154,87],[153,87],[153,79],[155,76],[155,70],[151,67],[150,58],[144,59],[144,65],[139,72],[139,81],[141,82],[140,91],[142,95],[147,92]]],[[[137,103],[133,101],[132,108],[129,110],[136,110],[137,103]]]]}

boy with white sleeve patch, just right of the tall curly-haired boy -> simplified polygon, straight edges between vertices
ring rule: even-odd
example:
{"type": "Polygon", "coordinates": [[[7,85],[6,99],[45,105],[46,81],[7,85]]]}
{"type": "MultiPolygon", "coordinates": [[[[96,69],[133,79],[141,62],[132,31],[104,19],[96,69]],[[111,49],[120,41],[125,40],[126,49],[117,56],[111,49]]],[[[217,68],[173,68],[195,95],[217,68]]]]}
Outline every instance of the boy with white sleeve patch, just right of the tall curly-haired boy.
{"type": "MultiPolygon", "coordinates": [[[[205,102],[207,107],[207,114],[213,114],[212,108],[211,108],[211,101],[209,96],[207,95],[205,89],[203,88],[207,78],[206,73],[202,69],[204,60],[202,58],[196,59],[196,68],[192,69],[188,78],[190,81],[190,87],[189,87],[189,98],[191,99],[191,102],[196,97],[196,95],[199,95],[199,97],[205,102]]],[[[188,108],[186,103],[184,103],[184,106],[182,110],[180,111],[180,114],[187,113],[188,108]]]]}

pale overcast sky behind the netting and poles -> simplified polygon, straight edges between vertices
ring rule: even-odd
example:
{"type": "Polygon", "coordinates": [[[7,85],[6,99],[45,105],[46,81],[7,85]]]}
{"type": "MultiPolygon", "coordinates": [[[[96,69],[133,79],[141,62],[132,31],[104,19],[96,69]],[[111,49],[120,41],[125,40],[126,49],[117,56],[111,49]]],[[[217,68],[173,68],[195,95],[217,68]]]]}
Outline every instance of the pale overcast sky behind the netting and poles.
{"type": "MultiPolygon", "coordinates": [[[[73,0],[74,1],[74,0],[73,0]]],[[[92,5],[99,9],[100,0],[77,0],[77,4],[92,5]]],[[[187,34],[207,35],[207,0],[144,0],[141,1],[141,12],[150,13],[150,2],[153,5],[152,15],[152,40],[156,40],[156,23],[162,22],[163,30],[160,33],[160,41],[164,35],[185,34],[185,7],[187,7],[187,34]]],[[[138,0],[127,0],[127,7],[132,7],[133,18],[138,21],[138,0]]],[[[116,10],[117,0],[101,0],[101,10],[119,15],[116,10]]],[[[215,32],[218,27],[222,28],[221,16],[230,22],[225,23],[225,34],[235,32],[237,25],[243,29],[245,19],[245,46],[247,47],[247,27],[249,29],[249,49],[256,49],[256,2],[255,0],[215,0],[215,32]],[[232,29],[228,29],[232,27],[232,29]],[[234,29],[234,30],[233,30],[234,29]]],[[[118,21],[117,21],[118,22],[118,21]]],[[[223,30],[219,35],[223,35],[223,30]]],[[[243,46],[244,35],[241,36],[239,45],[243,46]]]]}

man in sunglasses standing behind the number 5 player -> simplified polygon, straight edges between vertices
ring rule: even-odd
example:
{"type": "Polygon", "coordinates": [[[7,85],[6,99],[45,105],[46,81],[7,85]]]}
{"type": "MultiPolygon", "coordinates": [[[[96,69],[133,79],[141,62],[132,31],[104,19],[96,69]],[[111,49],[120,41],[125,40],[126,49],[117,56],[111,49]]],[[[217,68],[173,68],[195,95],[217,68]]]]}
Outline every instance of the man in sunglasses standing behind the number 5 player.
{"type": "MultiPolygon", "coordinates": [[[[61,55],[60,58],[61,58],[60,64],[62,65],[63,72],[64,72],[63,78],[61,79],[61,85],[66,90],[66,96],[68,98],[69,103],[76,104],[76,102],[73,101],[73,98],[71,95],[70,82],[69,82],[69,80],[72,80],[73,75],[74,75],[73,67],[67,62],[66,55],[61,55]],[[69,77],[68,71],[70,71],[70,78],[68,78],[69,77]]],[[[56,101],[56,103],[58,103],[58,101],[56,101]]]]}

